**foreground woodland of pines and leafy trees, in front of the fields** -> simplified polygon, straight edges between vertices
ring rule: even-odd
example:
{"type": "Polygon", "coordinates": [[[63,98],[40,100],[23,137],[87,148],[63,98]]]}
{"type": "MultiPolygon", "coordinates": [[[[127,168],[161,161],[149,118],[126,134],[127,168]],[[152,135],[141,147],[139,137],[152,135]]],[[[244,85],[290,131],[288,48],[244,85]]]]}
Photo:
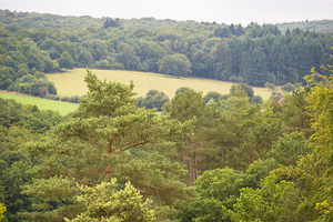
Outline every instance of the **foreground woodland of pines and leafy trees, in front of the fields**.
{"type": "Polygon", "coordinates": [[[162,114],[89,70],[65,118],[1,99],[3,221],[331,221],[333,83],[306,80],[263,107],[180,88],[162,114]]]}

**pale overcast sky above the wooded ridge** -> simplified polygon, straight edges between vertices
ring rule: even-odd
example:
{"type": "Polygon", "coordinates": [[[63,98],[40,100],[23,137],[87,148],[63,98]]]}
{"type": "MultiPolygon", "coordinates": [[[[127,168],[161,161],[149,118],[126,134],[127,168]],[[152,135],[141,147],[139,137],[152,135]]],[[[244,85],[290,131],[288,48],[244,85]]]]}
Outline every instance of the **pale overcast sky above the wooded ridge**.
{"type": "Polygon", "coordinates": [[[0,9],[95,18],[282,23],[333,19],[333,0],[0,0],[0,9]]]}

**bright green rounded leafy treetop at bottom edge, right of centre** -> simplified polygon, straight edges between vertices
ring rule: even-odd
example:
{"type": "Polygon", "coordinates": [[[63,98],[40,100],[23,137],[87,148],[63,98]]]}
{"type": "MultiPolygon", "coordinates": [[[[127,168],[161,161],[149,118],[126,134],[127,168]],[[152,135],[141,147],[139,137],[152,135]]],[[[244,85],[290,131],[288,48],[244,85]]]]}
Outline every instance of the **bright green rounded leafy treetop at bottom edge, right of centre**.
{"type": "Polygon", "coordinates": [[[264,179],[261,188],[241,189],[241,195],[233,211],[228,211],[232,221],[304,221],[306,218],[296,210],[300,193],[292,182],[274,176],[264,179]],[[286,198],[285,198],[286,196],[286,198]]]}

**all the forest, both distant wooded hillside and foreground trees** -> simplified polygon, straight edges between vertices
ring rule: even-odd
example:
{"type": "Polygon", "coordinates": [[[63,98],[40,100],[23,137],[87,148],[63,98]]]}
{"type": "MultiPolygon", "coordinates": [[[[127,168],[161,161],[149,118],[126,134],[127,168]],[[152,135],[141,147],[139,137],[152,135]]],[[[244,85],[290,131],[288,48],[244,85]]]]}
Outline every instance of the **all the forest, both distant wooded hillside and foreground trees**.
{"type": "Polygon", "coordinates": [[[65,117],[0,98],[0,221],[333,220],[332,33],[0,10],[0,41],[1,89],[57,95],[44,73],[74,67],[88,87],[65,117]],[[242,84],[149,107],[89,68],[242,84]]]}

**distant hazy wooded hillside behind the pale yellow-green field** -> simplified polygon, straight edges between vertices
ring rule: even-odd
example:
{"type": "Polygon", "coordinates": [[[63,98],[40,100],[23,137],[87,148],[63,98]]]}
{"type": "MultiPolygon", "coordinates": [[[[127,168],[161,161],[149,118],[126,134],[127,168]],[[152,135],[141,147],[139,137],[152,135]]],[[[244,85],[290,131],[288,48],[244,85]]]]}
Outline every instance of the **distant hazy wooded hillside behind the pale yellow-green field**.
{"type": "Polygon", "coordinates": [[[57,90],[42,73],[74,67],[194,75],[250,85],[304,84],[312,67],[329,63],[333,36],[299,28],[282,33],[276,26],[254,22],[242,27],[1,10],[0,41],[0,88],[46,97],[57,90]]]}

